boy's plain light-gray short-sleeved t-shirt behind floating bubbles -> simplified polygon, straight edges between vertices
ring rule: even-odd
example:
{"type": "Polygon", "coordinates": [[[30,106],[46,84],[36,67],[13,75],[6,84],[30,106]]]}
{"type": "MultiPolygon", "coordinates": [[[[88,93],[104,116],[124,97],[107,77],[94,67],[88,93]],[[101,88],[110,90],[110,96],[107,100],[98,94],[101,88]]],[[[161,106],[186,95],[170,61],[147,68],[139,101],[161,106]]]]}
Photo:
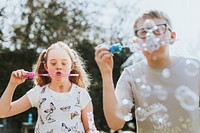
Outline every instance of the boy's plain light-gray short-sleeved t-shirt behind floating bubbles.
{"type": "Polygon", "coordinates": [[[137,133],[200,132],[200,62],[174,56],[153,69],[145,60],[124,69],[116,96],[135,105],[137,133]]]}

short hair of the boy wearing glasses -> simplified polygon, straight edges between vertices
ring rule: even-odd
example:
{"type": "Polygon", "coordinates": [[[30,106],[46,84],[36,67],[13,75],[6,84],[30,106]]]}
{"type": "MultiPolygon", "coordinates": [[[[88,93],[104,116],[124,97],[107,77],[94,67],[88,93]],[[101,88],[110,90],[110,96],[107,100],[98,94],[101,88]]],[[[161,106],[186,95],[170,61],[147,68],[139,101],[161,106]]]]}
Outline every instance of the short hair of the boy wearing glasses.
{"type": "Polygon", "coordinates": [[[154,19],[154,18],[165,19],[167,24],[169,25],[170,29],[172,29],[171,19],[169,18],[169,16],[166,13],[164,13],[163,11],[159,11],[159,10],[149,10],[136,18],[136,20],[134,22],[134,26],[133,26],[134,33],[136,30],[136,25],[140,19],[154,19]]]}

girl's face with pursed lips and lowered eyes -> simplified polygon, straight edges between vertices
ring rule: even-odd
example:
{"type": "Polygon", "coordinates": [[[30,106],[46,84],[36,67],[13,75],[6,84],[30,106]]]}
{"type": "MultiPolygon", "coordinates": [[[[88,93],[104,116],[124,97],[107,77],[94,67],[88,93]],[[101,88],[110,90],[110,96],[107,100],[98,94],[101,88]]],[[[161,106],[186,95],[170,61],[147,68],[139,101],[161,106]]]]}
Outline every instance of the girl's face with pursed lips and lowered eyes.
{"type": "Polygon", "coordinates": [[[66,50],[54,48],[48,52],[45,69],[51,75],[51,79],[62,78],[63,74],[70,74],[72,60],[66,50]]]}

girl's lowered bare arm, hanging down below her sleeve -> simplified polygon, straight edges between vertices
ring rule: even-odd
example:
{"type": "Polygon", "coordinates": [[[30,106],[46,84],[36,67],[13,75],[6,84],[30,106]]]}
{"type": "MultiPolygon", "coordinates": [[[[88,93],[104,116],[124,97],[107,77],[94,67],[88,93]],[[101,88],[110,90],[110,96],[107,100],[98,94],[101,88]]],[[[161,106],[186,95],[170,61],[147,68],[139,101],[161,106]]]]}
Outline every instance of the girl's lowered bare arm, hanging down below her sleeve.
{"type": "Polygon", "coordinates": [[[86,133],[100,133],[97,131],[94,123],[93,106],[91,101],[82,110],[82,121],[86,133]]]}

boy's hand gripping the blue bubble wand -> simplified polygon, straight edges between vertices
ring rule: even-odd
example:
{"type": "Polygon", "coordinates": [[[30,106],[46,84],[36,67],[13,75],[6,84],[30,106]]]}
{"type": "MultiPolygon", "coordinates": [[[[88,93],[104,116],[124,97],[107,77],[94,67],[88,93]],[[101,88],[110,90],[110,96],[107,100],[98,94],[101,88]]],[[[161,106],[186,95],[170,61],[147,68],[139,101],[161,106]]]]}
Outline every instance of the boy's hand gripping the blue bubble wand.
{"type": "Polygon", "coordinates": [[[113,54],[109,52],[108,47],[100,44],[95,48],[95,61],[101,71],[101,74],[112,73],[113,54]]]}

